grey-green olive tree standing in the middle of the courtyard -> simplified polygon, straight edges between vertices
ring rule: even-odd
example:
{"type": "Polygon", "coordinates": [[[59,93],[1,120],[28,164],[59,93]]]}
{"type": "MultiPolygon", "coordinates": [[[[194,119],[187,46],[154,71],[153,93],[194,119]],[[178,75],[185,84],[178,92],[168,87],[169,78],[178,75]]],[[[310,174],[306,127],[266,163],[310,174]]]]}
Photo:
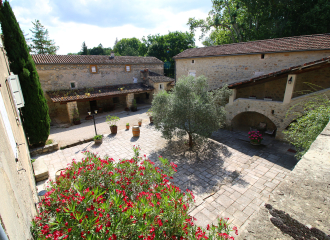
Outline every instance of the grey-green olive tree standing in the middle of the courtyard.
{"type": "Polygon", "coordinates": [[[165,139],[188,135],[189,146],[197,138],[210,137],[226,119],[225,104],[231,90],[227,86],[208,91],[204,76],[187,76],[178,80],[173,91],[162,91],[152,101],[155,127],[165,139]]]}

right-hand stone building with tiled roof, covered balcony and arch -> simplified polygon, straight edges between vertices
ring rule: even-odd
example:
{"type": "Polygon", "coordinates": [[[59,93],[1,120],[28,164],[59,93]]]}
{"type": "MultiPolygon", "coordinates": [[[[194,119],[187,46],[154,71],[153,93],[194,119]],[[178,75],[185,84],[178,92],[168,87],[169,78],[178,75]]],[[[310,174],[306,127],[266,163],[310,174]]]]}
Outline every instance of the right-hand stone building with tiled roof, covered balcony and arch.
{"type": "Polygon", "coordinates": [[[329,92],[328,56],[330,34],[316,34],[187,49],[174,59],[176,79],[204,75],[210,90],[223,84],[233,89],[227,127],[262,125],[283,139],[293,119],[287,111],[315,92],[329,92]]]}

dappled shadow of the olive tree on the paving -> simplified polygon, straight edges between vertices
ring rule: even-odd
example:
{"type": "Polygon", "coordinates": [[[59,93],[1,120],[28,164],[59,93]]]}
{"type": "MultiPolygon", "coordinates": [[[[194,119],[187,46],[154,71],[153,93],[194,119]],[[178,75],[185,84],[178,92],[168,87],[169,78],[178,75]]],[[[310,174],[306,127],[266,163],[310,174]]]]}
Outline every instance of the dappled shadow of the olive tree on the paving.
{"type": "Polygon", "coordinates": [[[158,157],[162,156],[178,165],[177,173],[173,176],[173,183],[185,191],[192,190],[203,200],[220,189],[222,185],[238,181],[242,185],[248,184],[241,179],[236,170],[227,170],[225,160],[230,158],[231,152],[225,145],[208,141],[192,149],[184,140],[169,141],[166,147],[150,154],[150,159],[160,166],[158,157]]]}

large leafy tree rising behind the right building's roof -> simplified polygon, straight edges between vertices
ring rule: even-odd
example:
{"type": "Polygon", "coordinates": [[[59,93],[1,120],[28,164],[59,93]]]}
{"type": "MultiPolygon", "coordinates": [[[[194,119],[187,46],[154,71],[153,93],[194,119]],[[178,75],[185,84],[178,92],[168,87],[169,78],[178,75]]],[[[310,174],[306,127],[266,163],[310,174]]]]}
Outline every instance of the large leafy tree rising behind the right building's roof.
{"type": "Polygon", "coordinates": [[[330,2],[327,0],[213,0],[209,16],[190,18],[192,32],[200,28],[206,46],[267,38],[327,33],[330,2]]]}

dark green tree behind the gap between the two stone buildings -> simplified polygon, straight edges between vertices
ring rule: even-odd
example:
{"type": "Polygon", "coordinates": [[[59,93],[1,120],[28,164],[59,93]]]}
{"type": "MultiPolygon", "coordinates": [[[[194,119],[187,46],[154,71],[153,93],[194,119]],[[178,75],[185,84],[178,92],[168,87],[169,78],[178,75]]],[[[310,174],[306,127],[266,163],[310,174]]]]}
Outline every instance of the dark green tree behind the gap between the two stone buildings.
{"type": "Polygon", "coordinates": [[[194,34],[188,32],[169,32],[166,35],[149,35],[142,39],[147,56],[156,57],[165,63],[165,73],[174,77],[175,61],[173,56],[188,48],[195,47],[194,34]]]}

